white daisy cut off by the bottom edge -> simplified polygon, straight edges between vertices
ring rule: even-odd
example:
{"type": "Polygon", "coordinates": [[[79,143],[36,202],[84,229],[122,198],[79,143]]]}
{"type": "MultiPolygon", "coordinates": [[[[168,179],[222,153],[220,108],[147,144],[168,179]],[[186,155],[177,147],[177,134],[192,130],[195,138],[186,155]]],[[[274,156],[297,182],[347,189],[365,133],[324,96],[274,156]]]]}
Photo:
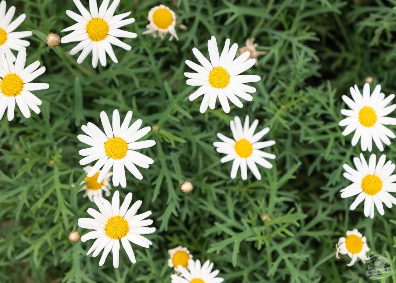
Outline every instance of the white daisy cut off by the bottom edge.
{"type": "Polygon", "coordinates": [[[220,283],[224,278],[216,277],[219,274],[218,270],[212,271],[213,263],[206,261],[202,266],[197,259],[195,262],[189,259],[188,269],[179,266],[181,276],[171,275],[172,283],[220,283]]]}

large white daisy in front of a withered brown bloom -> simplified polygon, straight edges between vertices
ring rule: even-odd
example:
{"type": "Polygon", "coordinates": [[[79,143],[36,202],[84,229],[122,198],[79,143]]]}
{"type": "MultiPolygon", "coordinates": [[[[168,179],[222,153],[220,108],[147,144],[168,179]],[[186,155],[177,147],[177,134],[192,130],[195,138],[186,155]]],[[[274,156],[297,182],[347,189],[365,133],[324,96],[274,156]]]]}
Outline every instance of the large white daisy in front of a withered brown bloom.
{"type": "Polygon", "coordinates": [[[242,108],[242,102],[238,97],[251,101],[253,97],[248,93],[256,91],[255,88],[245,84],[258,82],[261,78],[256,75],[240,74],[251,68],[256,63],[256,59],[249,59],[250,52],[246,51],[234,60],[238,45],[234,43],[229,48],[229,39],[226,40],[221,55],[214,36],[208,40],[207,47],[210,61],[197,48],[193,48],[193,54],[201,66],[186,60],[186,64],[197,72],[184,73],[189,78],[186,83],[190,86],[199,87],[190,95],[189,100],[193,101],[203,95],[202,104],[199,108],[201,113],[205,113],[208,107],[213,110],[216,107],[217,97],[226,113],[230,112],[228,100],[235,106],[242,108]]]}

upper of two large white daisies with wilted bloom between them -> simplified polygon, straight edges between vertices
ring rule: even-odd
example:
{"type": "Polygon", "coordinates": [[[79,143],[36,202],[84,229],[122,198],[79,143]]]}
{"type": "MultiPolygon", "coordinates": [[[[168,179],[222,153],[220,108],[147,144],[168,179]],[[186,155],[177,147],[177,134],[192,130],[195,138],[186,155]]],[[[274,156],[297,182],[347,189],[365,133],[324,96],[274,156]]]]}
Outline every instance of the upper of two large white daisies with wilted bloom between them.
{"type": "Polygon", "coordinates": [[[108,119],[106,112],[100,113],[100,119],[104,128],[104,133],[93,123],[88,123],[81,127],[87,135],[78,135],[77,138],[90,148],[81,149],[79,154],[86,156],[80,160],[81,165],[86,165],[96,161],[95,165],[88,171],[87,176],[94,176],[100,168],[97,182],[101,183],[107,172],[113,168],[113,185],[125,188],[127,181],[125,178],[124,166],[132,173],[133,176],[141,180],[142,174],[136,168],[136,165],[142,168],[150,167],[149,164],[154,160],[137,152],[136,150],[152,147],[155,141],[146,140],[139,141],[145,136],[151,127],[144,127],[139,130],[142,120],[136,120],[130,127],[132,111],[128,111],[124,121],[120,125],[120,114],[118,110],[113,111],[112,125],[108,119]]]}

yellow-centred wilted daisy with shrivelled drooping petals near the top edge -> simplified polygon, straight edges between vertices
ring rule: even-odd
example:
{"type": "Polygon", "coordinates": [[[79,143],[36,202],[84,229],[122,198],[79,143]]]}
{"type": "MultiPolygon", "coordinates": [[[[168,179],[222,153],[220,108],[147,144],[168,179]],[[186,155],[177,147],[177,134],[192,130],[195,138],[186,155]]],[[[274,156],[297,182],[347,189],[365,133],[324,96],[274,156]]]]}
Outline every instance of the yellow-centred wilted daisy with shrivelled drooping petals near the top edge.
{"type": "Polygon", "coordinates": [[[146,26],[147,30],[143,34],[152,33],[156,37],[158,32],[159,37],[164,39],[164,36],[170,33],[169,40],[172,40],[173,37],[179,40],[175,30],[176,14],[167,6],[159,5],[152,8],[148,12],[147,18],[150,23],[146,26]]]}

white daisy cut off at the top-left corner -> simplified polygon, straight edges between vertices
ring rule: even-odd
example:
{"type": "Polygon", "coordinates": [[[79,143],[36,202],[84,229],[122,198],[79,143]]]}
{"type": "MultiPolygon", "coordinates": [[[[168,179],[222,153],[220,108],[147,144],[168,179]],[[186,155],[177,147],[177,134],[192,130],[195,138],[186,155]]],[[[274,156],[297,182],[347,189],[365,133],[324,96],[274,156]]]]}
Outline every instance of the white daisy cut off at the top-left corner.
{"type": "Polygon", "coordinates": [[[26,15],[22,14],[17,17],[12,23],[11,20],[15,14],[15,7],[11,6],[7,11],[7,3],[1,1],[0,3],[0,55],[7,53],[10,55],[13,62],[16,57],[12,54],[12,50],[22,51],[30,43],[22,38],[32,35],[31,31],[14,32],[14,30],[25,20],[26,15]]]}

